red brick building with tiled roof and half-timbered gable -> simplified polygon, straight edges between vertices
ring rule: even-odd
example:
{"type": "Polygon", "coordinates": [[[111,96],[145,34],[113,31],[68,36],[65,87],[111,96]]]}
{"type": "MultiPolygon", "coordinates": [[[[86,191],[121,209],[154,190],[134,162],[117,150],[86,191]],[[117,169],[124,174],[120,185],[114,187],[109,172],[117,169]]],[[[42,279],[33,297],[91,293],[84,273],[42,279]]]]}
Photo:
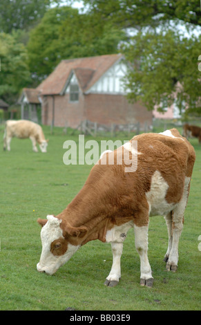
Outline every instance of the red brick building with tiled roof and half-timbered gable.
{"type": "Polygon", "coordinates": [[[127,69],[122,54],[64,59],[37,89],[23,89],[21,118],[73,129],[86,121],[149,129],[152,112],[126,98],[127,69]]]}

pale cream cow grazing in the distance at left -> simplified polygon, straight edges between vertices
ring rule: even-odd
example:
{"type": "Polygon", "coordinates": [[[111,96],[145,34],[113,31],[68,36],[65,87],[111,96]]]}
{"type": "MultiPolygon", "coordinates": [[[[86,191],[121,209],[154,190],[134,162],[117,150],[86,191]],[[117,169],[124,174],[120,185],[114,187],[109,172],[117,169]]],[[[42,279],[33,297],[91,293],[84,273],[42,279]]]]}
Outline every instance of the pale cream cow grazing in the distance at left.
{"type": "Polygon", "coordinates": [[[3,149],[10,151],[10,141],[12,138],[26,139],[32,141],[32,149],[37,152],[37,143],[42,152],[47,152],[48,140],[45,139],[41,126],[28,120],[8,120],[6,121],[3,136],[3,149]]]}

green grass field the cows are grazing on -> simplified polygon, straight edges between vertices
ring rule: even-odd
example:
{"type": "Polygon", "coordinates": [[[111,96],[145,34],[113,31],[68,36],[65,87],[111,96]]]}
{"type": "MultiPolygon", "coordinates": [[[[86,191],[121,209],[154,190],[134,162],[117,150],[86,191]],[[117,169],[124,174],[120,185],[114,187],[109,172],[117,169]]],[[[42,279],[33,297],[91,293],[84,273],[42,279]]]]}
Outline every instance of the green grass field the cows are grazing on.
{"type": "MultiPolygon", "coordinates": [[[[2,131],[1,127],[1,131],[2,131]]],[[[163,130],[157,130],[163,131],[163,130]]],[[[34,153],[30,140],[13,139],[11,151],[0,140],[0,310],[200,310],[201,146],[191,140],[197,160],[180,238],[178,271],[166,272],[167,231],[161,216],[150,220],[149,261],[152,289],[140,287],[140,258],[130,230],[122,254],[122,279],[104,286],[111,270],[111,245],[90,241],[53,276],[37,272],[41,228],[37,218],[59,214],[82,188],[91,166],[63,163],[62,129],[50,135],[46,154],[34,153]],[[2,148],[2,150],[1,150],[2,148]]],[[[92,137],[86,137],[86,140],[92,137]]],[[[99,140],[101,137],[98,138],[99,140]]],[[[121,136],[120,140],[128,140],[121,136]]],[[[106,138],[104,138],[106,140],[106,138]]]]}

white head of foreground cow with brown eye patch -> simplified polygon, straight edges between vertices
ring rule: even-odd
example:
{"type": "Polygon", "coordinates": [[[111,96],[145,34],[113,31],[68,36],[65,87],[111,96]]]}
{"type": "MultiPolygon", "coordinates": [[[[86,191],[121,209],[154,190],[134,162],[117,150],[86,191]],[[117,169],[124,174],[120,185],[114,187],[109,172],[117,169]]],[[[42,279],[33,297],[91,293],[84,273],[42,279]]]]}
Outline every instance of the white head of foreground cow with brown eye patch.
{"type": "Polygon", "coordinates": [[[78,250],[80,245],[71,245],[64,238],[60,228],[61,219],[47,216],[47,221],[39,221],[41,229],[42,252],[37,270],[53,275],[78,250]]]}

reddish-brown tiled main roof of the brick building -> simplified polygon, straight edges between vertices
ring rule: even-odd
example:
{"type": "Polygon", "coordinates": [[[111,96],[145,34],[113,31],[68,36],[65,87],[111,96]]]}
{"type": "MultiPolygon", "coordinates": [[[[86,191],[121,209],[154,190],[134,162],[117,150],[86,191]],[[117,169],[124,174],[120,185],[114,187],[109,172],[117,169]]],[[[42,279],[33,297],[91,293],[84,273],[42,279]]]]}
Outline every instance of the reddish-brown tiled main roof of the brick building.
{"type": "Polygon", "coordinates": [[[37,91],[41,95],[64,93],[72,72],[75,73],[82,91],[87,91],[122,57],[122,54],[113,54],[62,60],[46,80],[39,84],[37,91]]]}

